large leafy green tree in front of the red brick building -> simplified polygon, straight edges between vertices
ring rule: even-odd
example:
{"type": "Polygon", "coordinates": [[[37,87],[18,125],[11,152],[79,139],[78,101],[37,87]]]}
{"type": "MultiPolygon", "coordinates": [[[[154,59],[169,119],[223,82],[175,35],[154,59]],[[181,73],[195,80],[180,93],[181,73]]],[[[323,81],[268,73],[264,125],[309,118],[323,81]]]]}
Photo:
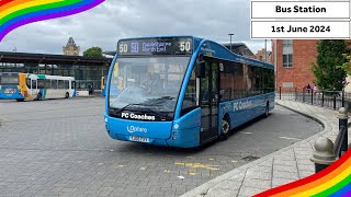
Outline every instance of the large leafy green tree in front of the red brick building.
{"type": "Polygon", "coordinates": [[[340,68],[347,61],[343,54],[348,45],[342,39],[326,39],[317,43],[317,65],[312,63],[315,84],[321,90],[341,91],[346,85],[347,72],[340,68]]]}

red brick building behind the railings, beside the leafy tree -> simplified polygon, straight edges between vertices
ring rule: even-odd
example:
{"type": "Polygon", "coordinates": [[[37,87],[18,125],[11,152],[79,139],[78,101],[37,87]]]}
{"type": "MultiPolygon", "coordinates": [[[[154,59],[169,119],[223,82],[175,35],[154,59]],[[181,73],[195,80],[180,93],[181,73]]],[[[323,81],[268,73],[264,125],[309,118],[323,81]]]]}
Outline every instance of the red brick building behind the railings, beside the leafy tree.
{"type": "MultiPolygon", "coordinates": [[[[314,85],[310,70],[317,58],[315,39],[278,39],[276,40],[276,86],[282,89],[302,89],[314,85]]],[[[272,40],[272,63],[275,57],[275,40],[272,40]]]]}

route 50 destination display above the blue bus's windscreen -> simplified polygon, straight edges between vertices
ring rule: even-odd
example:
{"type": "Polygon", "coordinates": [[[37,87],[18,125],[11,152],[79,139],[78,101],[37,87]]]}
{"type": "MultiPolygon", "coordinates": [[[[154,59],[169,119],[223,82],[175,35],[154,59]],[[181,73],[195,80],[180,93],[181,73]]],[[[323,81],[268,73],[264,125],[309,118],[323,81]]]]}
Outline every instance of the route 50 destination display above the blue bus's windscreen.
{"type": "Polygon", "coordinates": [[[191,37],[127,39],[118,43],[118,55],[191,55],[191,37]]]}

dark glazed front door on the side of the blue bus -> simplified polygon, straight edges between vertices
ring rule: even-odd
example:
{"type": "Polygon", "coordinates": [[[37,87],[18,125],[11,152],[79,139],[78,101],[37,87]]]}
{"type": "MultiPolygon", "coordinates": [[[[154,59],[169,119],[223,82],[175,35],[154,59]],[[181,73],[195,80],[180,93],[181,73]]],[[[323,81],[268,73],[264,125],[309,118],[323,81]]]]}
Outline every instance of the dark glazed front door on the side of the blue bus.
{"type": "Polygon", "coordinates": [[[218,63],[213,59],[205,59],[205,78],[201,78],[200,106],[201,115],[201,143],[218,137],[218,63]]]}

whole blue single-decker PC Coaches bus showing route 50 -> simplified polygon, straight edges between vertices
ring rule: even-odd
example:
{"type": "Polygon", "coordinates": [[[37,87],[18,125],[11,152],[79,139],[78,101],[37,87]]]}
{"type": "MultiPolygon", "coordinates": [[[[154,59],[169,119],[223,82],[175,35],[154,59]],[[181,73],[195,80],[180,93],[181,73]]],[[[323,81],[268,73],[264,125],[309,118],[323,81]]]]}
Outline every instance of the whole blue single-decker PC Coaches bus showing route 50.
{"type": "Polygon", "coordinates": [[[121,39],[109,71],[113,139],[194,148],[274,108],[274,67],[194,36],[121,39]]]}

